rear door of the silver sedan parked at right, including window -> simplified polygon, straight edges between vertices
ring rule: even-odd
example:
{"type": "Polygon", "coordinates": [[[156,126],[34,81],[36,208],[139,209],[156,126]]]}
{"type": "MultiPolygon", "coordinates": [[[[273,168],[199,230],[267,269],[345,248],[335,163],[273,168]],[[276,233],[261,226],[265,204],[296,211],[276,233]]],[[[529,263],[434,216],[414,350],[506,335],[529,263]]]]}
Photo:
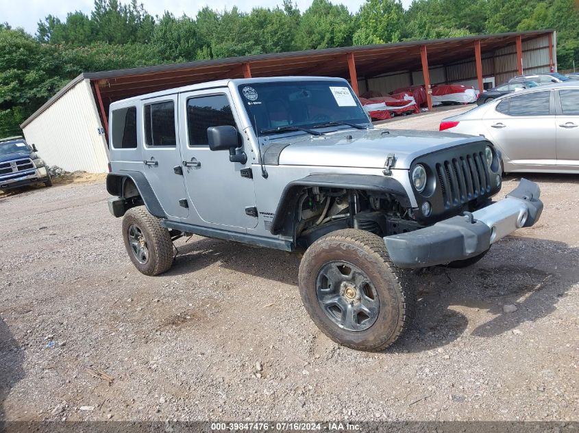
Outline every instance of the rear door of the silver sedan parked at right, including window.
{"type": "Polygon", "coordinates": [[[510,162],[556,163],[554,94],[551,90],[510,96],[484,114],[484,127],[510,162]]]}

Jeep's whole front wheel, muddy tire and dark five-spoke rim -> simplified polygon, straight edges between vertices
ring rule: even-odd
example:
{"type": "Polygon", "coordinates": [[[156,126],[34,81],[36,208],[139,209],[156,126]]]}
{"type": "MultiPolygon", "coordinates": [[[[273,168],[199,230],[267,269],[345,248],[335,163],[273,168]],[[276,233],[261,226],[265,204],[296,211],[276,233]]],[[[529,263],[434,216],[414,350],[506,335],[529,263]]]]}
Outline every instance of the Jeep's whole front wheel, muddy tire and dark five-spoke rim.
{"type": "Polygon", "coordinates": [[[416,291],[382,238],[346,229],[315,241],[299,265],[299,291],[330,339],[356,350],[384,350],[408,327],[416,291]]]}

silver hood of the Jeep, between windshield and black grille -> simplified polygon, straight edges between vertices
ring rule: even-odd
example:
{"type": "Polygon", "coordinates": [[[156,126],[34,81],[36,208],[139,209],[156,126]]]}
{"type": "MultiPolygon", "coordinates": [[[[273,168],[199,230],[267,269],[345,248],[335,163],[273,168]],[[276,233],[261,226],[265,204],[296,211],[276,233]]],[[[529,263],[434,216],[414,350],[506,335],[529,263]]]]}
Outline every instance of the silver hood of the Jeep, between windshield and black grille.
{"type": "Polygon", "coordinates": [[[268,146],[282,149],[280,165],[358,168],[383,168],[388,154],[393,153],[393,168],[408,169],[421,155],[480,140],[484,138],[438,131],[341,129],[317,136],[270,136],[262,150],[268,146]]]}

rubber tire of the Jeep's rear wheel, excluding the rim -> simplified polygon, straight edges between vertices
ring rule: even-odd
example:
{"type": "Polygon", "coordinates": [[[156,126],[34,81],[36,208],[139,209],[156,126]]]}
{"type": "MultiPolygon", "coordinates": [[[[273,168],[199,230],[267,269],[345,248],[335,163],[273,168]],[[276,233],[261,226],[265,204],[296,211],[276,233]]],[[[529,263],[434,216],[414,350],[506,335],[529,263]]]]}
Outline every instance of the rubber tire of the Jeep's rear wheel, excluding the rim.
{"type": "Polygon", "coordinates": [[[153,276],[167,272],[173,265],[173,241],[169,230],[160,224],[160,220],[151,215],[145,206],[129,209],[123,217],[123,241],[127,254],[139,272],[153,276]],[[139,263],[129,244],[129,227],[135,224],[147,242],[149,258],[146,263],[139,263]]]}

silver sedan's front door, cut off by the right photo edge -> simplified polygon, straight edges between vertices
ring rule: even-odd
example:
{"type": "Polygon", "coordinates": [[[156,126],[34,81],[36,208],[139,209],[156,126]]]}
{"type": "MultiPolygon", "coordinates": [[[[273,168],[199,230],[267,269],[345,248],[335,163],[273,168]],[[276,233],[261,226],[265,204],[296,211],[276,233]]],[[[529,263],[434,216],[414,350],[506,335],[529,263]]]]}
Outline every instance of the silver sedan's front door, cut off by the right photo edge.
{"type": "Polygon", "coordinates": [[[579,167],[579,89],[558,90],[557,165],[579,167]]]}

